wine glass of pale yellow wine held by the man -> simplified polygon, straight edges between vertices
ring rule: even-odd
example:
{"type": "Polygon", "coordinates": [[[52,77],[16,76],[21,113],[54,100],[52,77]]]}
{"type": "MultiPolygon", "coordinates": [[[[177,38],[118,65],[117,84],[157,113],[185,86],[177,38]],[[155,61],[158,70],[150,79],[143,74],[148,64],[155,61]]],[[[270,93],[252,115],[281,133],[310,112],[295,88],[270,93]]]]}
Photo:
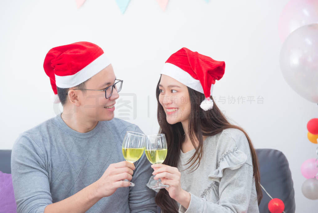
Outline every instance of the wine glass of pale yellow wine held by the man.
{"type": "MultiPolygon", "coordinates": [[[[139,132],[127,131],[122,142],[122,155],[125,160],[130,163],[135,163],[142,156],[145,147],[146,136],[139,132]]],[[[129,182],[129,186],[135,186],[133,182],[125,179],[123,181],[129,182]]]]}

